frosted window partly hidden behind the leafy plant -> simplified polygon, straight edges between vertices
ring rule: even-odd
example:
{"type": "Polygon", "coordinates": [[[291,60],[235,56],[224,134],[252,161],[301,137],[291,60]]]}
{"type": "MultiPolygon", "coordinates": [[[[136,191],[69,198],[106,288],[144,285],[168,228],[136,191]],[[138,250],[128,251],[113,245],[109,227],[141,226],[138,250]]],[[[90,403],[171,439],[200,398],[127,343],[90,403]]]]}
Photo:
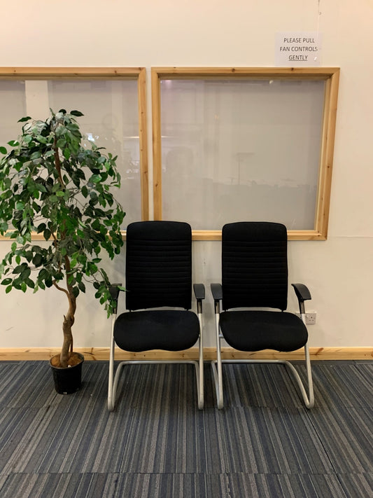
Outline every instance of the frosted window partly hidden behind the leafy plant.
{"type": "MultiPolygon", "coordinates": [[[[91,141],[106,148],[106,153],[118,155],[122,186],[115,198],[126,212],[122,228],[132,221],[148,219],[148,186],[141,181],[146,158],[141,155],[140,141],[146,141],[146,133],[143,123],[139,123],[138,79],[136,76],[119,78],[117,70],[113,71],[113,78],[104,76],[110,71],[108,68],[102,69],[103,76],[94,74],[94,78],[85,76],[85,69],[83,74],[73,70],[74,74],[79,74],[77,78],[64,76],[68,69],[61,71],[62,76],[56,71],[50,78],[43,78],[27,68],[24,72],[32,73],[31,78],[24,76],[10,81],[6,74],[0,79],[0,144],[6,146],[10,139],[17,138],[22,127],[17,120],[23,116],[45,119],[49,109],[81,111],[84,116],[78,118],[78,123],[85,143],[91,141]]],[[[99,69],[94,71],[99,73],[99,69]]],[[[4,73],[6,68],[1,70],[1,74],[4,73]]],[[[144,109],[145,102],[142,106],[144,109]]]]}

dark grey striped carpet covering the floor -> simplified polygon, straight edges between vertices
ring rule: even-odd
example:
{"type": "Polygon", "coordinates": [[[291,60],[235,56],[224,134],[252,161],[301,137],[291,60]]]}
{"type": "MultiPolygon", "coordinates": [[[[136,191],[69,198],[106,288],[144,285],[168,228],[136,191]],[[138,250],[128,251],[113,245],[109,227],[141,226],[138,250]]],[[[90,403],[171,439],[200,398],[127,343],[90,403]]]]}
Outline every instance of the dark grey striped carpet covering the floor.
{"type": "Polygon", "coordinates": [[[372,361],[313,362],[312,410],[283,366],[223,369],[223,410],[209,366],[199,411],[194,367],[148,365],[108,413],[106,362],[69,396],[47,362],[0,362],[0,497],[373,497],[372,361]]]}

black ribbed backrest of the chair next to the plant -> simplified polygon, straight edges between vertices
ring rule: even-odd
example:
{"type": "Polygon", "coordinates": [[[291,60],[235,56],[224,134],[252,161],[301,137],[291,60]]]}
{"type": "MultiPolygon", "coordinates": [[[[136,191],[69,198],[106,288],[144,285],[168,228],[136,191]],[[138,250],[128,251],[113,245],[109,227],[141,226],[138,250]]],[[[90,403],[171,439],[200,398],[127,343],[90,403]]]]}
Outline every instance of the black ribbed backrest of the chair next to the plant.
{"type": "Polygon", "coordinates": [[[192,230],[180,221],[139,221],[127,227],[126,307],[192,303],[192,230]]]}

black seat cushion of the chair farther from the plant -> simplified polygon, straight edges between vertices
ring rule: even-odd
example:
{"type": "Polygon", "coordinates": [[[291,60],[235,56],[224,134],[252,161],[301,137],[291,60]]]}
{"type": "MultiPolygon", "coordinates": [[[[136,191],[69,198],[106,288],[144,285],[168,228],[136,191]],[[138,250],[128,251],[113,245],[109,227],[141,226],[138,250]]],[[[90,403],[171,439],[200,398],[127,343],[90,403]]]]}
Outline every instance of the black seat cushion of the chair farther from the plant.
{"type": "Polygon", "coordinates": [[[308,340],[307,327],[296,314],[276,311],[225,311],[220,329],[227,343],[240,351],[295,351],[308,340]]]}

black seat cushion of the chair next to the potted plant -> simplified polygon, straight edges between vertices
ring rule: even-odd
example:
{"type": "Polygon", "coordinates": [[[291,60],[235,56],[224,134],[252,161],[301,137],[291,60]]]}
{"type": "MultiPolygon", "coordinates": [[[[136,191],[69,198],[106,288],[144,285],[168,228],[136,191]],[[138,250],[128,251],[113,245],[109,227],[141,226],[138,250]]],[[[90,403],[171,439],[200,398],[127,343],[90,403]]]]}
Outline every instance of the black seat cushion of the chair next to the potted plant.
{"type": "Polygon", "coordinates": [[[198,336],[198,317],[186,310],[125,312],[114,325],[115,343],[131,352],[187,350],[197,342],[198,336]]]}

